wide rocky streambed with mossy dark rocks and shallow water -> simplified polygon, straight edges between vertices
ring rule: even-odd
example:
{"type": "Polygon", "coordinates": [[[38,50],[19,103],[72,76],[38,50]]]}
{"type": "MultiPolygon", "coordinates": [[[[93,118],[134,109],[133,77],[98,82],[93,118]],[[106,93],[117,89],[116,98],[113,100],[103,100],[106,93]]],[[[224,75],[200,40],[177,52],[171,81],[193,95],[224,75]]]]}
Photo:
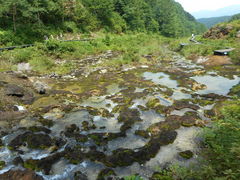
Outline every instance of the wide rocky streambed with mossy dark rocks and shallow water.
{"type": "Polygon", "coordinates": [[[197,163],[198,133],[239,81],[237,66],[179,56],[87,77],[2,73],[0,179],[150,179],[197,163]]]}

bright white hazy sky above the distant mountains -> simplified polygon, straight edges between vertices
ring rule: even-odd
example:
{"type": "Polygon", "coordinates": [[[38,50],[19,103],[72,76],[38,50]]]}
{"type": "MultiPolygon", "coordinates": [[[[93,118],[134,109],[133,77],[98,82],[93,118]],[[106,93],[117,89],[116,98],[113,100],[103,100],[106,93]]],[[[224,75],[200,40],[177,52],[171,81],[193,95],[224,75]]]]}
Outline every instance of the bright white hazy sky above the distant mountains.
{"type": "Polygon", "coordinates": [[[215,10],[234,4],[240,4],[240,0],[175,0],[182,4],[188,12],[200,10],[215,10]]]}

